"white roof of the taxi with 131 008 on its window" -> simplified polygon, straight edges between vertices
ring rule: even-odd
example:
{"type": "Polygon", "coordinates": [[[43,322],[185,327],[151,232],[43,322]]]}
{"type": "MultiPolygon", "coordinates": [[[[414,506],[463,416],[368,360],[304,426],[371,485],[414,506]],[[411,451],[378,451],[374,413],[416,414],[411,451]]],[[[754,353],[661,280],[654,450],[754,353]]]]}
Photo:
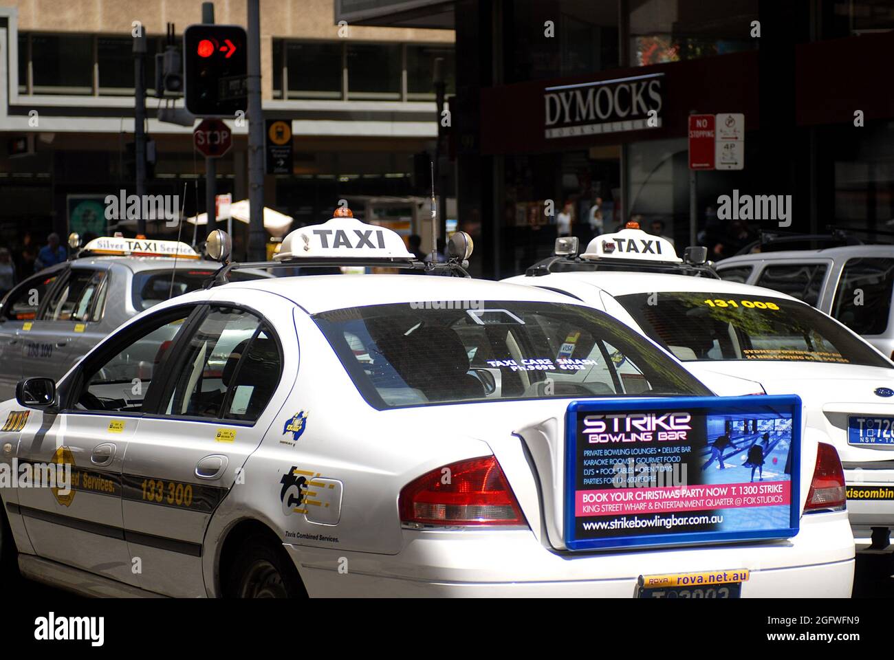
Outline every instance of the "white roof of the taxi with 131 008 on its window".
{"type": "Polygon", "coordinates": [[[644,292],[720,292],[741,295],[762,295],[786,300],[797,300],[791,296],[738,282],[715,280],[711,277],[692,275],[666,275],[662,273],[618,273],[611,271],[587,271],[575,273],[550,273],[549,275],[511,277],[510,283],[528,286],[561,287],[563,282],[587,283],[599,287],[612,296],[644,292]]]}

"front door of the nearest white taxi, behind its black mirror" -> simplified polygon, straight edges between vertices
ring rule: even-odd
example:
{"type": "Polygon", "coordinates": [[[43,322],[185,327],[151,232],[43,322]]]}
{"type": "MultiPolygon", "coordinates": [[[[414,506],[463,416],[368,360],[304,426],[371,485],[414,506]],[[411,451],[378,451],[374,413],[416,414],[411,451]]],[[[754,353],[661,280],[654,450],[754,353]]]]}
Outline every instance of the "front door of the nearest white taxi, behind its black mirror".
{"type": "Polygon", "coordinates": [[[57,412],[21,439],[19,461],[71,466],[70,488],[20,488],[21,514],[39,556],[131,585],[122,516],[122,465],[143,404],[166,373],[166,347],[195,306],[164,309],[116,334],[59,387],[57,412]]]}

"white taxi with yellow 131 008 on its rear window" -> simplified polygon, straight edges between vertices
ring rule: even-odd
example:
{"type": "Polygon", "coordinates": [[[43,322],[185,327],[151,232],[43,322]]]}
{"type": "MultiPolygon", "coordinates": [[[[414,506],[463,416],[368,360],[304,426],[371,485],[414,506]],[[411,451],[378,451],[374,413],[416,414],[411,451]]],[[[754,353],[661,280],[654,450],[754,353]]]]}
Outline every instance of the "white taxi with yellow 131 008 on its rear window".
{"type": "Polygon", "coordinates": [[[756,381],[796,393],[808,427],[838,450],[860,548],[888,549],[894,526],[894,364],[838,321],[789,295],[717,279],[704,248],[677,257],[658,236],[628,227],[576,241],[506,282],[602,309],[671,352],[715,392],[712,379],[756,381]]]}

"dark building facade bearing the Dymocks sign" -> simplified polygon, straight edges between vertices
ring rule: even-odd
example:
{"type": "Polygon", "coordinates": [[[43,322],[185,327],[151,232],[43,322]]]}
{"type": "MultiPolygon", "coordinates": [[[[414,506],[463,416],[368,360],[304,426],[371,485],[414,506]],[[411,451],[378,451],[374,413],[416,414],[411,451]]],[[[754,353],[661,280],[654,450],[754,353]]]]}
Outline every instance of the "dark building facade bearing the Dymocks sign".
{"type": "Polygon", "coordinates": [[[459,221],[484,275],[548,254],[560,214],[583,240],[637,219],[680,249],[695,235],[712,258],[762,230],[894,232],[890,1],[337,6],[348,21],[455,30],[459,221]],[[744,168],[696,173],[695,204],[693,113],[745,115],[744,168]],[[733,194],[790,200],[789,217],[719,217],[733,194]]]}

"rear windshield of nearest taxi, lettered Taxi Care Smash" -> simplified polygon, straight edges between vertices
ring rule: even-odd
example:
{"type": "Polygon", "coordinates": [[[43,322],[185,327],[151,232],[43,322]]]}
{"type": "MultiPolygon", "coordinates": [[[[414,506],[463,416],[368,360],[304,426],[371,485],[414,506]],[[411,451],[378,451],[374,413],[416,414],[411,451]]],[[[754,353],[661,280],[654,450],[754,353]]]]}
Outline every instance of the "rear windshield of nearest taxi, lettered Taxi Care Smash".
{"type": "Polygon", "coordinates": [[[401,303],[337,309],[314,319],[359,392],[379,410],[446,402],[711,394],[628,327],[577,305],[401,303]]]}

